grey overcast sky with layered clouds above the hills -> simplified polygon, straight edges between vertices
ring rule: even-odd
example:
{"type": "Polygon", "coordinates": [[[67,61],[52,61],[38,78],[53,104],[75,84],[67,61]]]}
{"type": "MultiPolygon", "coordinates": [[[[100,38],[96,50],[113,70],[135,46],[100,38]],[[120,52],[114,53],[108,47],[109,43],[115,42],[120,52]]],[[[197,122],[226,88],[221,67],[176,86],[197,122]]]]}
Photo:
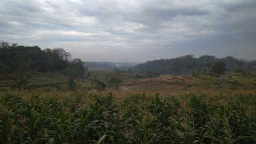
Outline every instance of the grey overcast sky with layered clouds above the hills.
{"type": "Polygon", "coordinates": [[[256,0],[0,0],[0,40],[85,61],[256,59],[256,0]]]}

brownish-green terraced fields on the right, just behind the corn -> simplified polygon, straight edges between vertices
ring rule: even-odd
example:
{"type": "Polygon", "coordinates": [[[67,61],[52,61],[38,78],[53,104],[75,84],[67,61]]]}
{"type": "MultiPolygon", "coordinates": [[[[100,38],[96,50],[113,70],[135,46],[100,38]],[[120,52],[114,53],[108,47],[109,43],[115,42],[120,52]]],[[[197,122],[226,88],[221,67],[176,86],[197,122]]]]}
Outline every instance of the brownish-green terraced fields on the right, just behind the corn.
{"type": "Polygon", "coordinates": [[[256,90],[256,74],[241,75],[237,73],[226,74],[220,77],[191,75],[161,75],[155,78],[127,79],[120,85],[125,91],[153,91],[156,93],[183,91],[190,92],[223,92],[235,90],[256,90]]]}

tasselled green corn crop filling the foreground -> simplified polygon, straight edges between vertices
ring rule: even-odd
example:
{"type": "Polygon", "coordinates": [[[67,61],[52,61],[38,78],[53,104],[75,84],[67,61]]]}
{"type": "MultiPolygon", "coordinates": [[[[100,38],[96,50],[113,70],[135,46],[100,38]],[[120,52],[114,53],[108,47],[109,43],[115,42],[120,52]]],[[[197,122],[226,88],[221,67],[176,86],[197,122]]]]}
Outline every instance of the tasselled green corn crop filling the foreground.
{"type": "Polygon", "coordinates": [[[0,143],[256,142],[256,95],[36,93],[1,93],[0,143]]]}

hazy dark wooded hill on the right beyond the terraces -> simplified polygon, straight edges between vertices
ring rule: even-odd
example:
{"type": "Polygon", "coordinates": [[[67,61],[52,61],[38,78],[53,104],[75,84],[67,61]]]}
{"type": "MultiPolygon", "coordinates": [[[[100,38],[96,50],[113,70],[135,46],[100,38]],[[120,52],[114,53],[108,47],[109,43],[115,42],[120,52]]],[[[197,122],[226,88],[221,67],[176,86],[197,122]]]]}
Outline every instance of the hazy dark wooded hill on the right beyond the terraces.
{"type": "Polygon", "coordinates": [[[236,59],[232,56],[216,58],[211,55],[202,55],[195,58],[193,55],[185,55],[171,59],[159,59],[147,61],[135,65],[132,70],[137,72],[153,71],[160,74],[165,73],[191,73],[199,69],[211,70],[215,61],[223,61],[227,71],[236,71],[238,68],[244,68],[245,61],[236,59]]]}

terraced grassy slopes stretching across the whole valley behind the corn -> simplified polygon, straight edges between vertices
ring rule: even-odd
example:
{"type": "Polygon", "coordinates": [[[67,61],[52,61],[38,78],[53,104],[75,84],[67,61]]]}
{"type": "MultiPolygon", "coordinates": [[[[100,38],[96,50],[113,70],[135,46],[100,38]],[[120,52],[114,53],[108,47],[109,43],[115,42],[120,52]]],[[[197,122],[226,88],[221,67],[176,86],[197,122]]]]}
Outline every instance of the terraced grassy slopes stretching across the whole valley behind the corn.
{"type": "MultiPolygon", "coordinates": [[[[90,76],[76,78],[80,88],[91,89],[95,87],[92,79],[98,79],[106,82],[107,77],[115,77],[122,79],[119,84],[120,90],[125,91],[152,91],[152,92],[195,92],[195,91],[221,91],[226,90],[253,90],[256,88],[256,74],[241,75],[227,74],[223,77],[198,76],[192,77],[188,75],[174,76],[161,75],[156,78],[137,79],[135,73],[121,73],[102,70],[89,70],[90,76]]],[[[44,88],[67,88],[67,76],[58,72],[34,73],[28,80],[28,85],[33,87],[44,88]]],[[[0,88],[8,87],[13,81],[0,76],[0,88]]]]}

